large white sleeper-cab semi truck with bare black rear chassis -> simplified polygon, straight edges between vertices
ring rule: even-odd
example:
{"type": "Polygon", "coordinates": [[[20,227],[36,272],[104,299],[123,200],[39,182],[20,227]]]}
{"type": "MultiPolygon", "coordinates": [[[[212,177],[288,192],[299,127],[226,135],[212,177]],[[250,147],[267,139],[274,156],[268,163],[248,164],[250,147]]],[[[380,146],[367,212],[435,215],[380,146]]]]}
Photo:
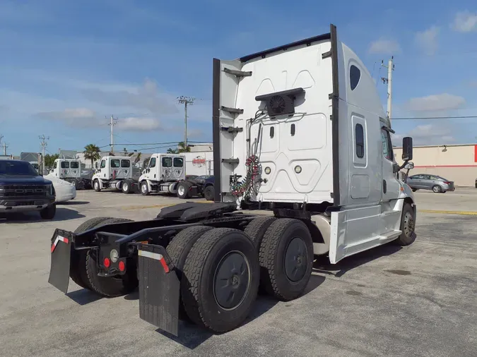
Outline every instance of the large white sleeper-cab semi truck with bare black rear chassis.
{"type": "MultiPolygon", "coordinates": [[[[139,286],[139,316],[213,332],[249,315],[259,286],[298,298],[315,256],[335,264],[416,239],[416,202],[399,180],[393,130],[363,62],[336,27],[235,61],[213,59],[215,202],[152,220],[95,217],[52,236],[49,283],[102,296],[139,286]]],[[[412,139],[403,139],[404,164],[412,139]]],[[[406,250],[401,250],[405,253],[406,250]]]]}

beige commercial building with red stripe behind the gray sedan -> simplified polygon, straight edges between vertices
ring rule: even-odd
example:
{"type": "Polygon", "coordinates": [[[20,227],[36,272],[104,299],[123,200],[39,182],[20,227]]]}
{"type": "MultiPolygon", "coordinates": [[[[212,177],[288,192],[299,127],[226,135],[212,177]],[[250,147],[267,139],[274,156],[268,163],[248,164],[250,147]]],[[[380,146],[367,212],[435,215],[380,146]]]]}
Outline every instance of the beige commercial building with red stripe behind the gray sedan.
{"type": "MultiPolygon", "coordinates": [[[[402,163],[402,147],[394,147],[396,161],[402,163]]],[[[409,175],[434,174],[454,181],[456,186],[475,187],[477,145],[429,145],[413,148],[414,169],[409,175]]]]}

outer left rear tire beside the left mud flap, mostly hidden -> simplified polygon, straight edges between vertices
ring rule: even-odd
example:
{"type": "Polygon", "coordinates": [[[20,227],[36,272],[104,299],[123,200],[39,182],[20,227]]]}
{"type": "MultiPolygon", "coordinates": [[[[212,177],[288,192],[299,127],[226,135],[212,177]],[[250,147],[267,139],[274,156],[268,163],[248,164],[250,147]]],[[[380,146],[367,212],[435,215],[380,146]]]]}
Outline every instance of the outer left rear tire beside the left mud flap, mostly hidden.
{"type": "MultiPolygon", "coordinates": [[[[112,217],[94,217],[88,219],[88,221],[83,222],[76,228],[74,231],[75,234],[81,234],[89,229],[93,229],[96,226],[100,226],[102,222],[107,219],[112,219],[112,217]]],[[[71,259],[69,262],[69,276],[79,286],[83,289],[93,290],[90,286],[88,280],[83,279],[86,277],[86,251],[85,250],[75,250],[73,245],[71,245],[71,259]]]]}

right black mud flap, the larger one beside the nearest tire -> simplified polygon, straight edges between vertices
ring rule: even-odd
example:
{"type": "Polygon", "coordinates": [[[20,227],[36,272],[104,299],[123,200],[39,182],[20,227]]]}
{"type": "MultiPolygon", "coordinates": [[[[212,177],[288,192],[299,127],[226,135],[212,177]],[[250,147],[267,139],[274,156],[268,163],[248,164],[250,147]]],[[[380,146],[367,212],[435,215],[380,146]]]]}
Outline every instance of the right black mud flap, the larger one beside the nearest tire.
{"type": "Polygon", "coordinates": [[[179,278],[163,246],[138,244],[139,317],[178,336],[179,278]]]}

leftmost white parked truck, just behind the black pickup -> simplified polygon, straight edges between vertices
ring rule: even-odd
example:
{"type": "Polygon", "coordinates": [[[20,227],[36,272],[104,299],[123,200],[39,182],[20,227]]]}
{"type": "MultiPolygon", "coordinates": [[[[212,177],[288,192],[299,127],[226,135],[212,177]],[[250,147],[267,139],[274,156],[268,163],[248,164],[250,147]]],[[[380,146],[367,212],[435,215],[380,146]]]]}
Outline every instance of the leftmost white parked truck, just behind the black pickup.
{"type": "Polygon", "coordinates": [[[53,168],[47,174],[49,176],[73,183],[76,190],[91,188],[92,175],[81,169],[81,161],[78,159],[55,159],[53,168]]]}

